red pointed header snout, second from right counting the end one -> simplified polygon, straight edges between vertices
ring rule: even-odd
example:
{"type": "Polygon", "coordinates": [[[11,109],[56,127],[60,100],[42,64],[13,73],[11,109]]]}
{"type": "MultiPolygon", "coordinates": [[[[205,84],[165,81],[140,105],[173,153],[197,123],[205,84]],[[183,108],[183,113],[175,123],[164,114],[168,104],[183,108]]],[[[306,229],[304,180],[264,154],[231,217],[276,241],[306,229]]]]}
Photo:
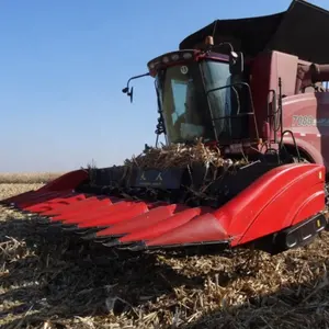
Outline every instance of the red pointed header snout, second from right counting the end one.
{"type": "MultiPolygon", "coordinates": [[[[163,212],[166,214],[166,212],[163,212]]],[[[134,242],[134,241],[141,241],[141,240],[149,240],[154,239],[156,237],[159,237],[163,235],[164,232],[172,230],[188,222],[190,222],[195,216],[198,216],[201,214],[201,208],[191,208],[185,209],[181,213],[178,213],[173,216],[168,216],[167,218],[159,218],[154,217],[152,222],[144,222],[140,223],[139,226],[134,227],[134,229],[131,229],[131,234],[122,237],[118,239],[120,242],[134,242]],[[138,229],[136,229],[138,228],[138,229]]],[[[123,223],[124,224],[124,223],[123,223]]],[[[113,228],[115,229],[116,226],[113,228]]],[[[111,232],[111,228],[104,229],[104,231],[111,232]]],[[[101,236],[101,232],[98,232],[98,236],[101,236]]],[[[117,230],[118,232],[118,230],[117,230]]],[[[125,231],[123,231],[125,232],[125,231]]],[[[111,235],[111,234],[109,234],[111,235]]]]}

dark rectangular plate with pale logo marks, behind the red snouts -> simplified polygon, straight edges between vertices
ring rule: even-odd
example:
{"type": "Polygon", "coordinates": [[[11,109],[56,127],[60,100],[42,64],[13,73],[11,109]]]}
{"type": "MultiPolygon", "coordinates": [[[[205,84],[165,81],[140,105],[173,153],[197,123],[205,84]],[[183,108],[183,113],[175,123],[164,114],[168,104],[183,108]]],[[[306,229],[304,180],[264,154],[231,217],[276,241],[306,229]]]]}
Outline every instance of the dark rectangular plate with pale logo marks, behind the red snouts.
{"type": "Polygon", "coordinates": [[[137,172],[135,186],[138,188],[161,188],[179,189],[181,184],[181,170],[139,170],[137,172]]]}

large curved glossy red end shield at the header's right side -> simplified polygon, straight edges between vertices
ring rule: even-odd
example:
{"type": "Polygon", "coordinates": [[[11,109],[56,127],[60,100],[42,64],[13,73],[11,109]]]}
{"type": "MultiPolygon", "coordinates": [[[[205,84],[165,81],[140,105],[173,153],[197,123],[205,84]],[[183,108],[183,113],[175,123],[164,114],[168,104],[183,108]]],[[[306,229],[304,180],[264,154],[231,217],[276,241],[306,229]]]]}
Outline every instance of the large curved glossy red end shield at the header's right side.
{"type": "MultiPolygon", "coordinates": [[[[213,215],[232,238],[231,246],[245,243],[292,225],[298,212],[296,198],[305,191],[303,200],[307,200],[314,194],[313,190],[307,192],[308,188],[315,185],[318,191],[325,190],[324,166],[281,166],[263,174],[213,215]],[[269,211],[264,211],[266,207],[269,211]]],[[[315,214],[322,209],[325,198],[322,203],[317,198],[311,211],[315,214]]]]}

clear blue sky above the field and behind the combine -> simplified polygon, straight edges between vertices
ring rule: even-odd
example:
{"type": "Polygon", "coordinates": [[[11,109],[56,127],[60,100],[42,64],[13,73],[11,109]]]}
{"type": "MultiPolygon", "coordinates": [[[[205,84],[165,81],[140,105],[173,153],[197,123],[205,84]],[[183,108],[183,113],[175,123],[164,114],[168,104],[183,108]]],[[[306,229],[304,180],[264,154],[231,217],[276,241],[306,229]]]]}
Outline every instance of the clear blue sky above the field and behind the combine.
{"type": "MultiPolygon", "coordinates": [[[[309,1],[329,9],[328,0],[309,1]]],[[[290,0],[0,0],[0,172],[121,163],[154,145],[146,64],[215,19],[271,14],[290,0]]]]}

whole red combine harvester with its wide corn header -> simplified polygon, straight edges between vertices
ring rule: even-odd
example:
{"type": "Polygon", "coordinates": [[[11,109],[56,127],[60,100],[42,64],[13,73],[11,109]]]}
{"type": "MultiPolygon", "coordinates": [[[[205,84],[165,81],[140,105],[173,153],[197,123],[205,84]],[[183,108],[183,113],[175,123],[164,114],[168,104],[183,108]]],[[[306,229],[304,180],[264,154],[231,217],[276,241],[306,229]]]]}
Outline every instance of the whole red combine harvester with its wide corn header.
{"type": "Polygon", "coordinates": [[[82,169],[1,204],[134,251],[259,243],[280,252],[310,242],[327,228],[328,25],[329,12],[300,0],[273,15],[218,20],[128,80],[133,101],[129,81],[155,79],[156,134],[167,145],[202,137],[248,164],[215,177],[206,166],[82,169]],[[212,201],[191,201],[188,188],[205,181],[212,201]]]}

